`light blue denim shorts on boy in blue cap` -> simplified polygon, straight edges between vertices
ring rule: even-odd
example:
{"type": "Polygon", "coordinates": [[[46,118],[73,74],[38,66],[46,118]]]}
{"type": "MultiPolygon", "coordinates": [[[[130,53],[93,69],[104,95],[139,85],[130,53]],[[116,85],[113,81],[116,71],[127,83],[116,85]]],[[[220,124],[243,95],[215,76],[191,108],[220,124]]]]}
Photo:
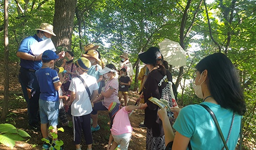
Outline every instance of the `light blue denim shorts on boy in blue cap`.
{"type": "Polygon", "coordinates": [[[39,113],[41,124],[58,125],[59,101],[46,101],[39,99],[39,113]]]}

